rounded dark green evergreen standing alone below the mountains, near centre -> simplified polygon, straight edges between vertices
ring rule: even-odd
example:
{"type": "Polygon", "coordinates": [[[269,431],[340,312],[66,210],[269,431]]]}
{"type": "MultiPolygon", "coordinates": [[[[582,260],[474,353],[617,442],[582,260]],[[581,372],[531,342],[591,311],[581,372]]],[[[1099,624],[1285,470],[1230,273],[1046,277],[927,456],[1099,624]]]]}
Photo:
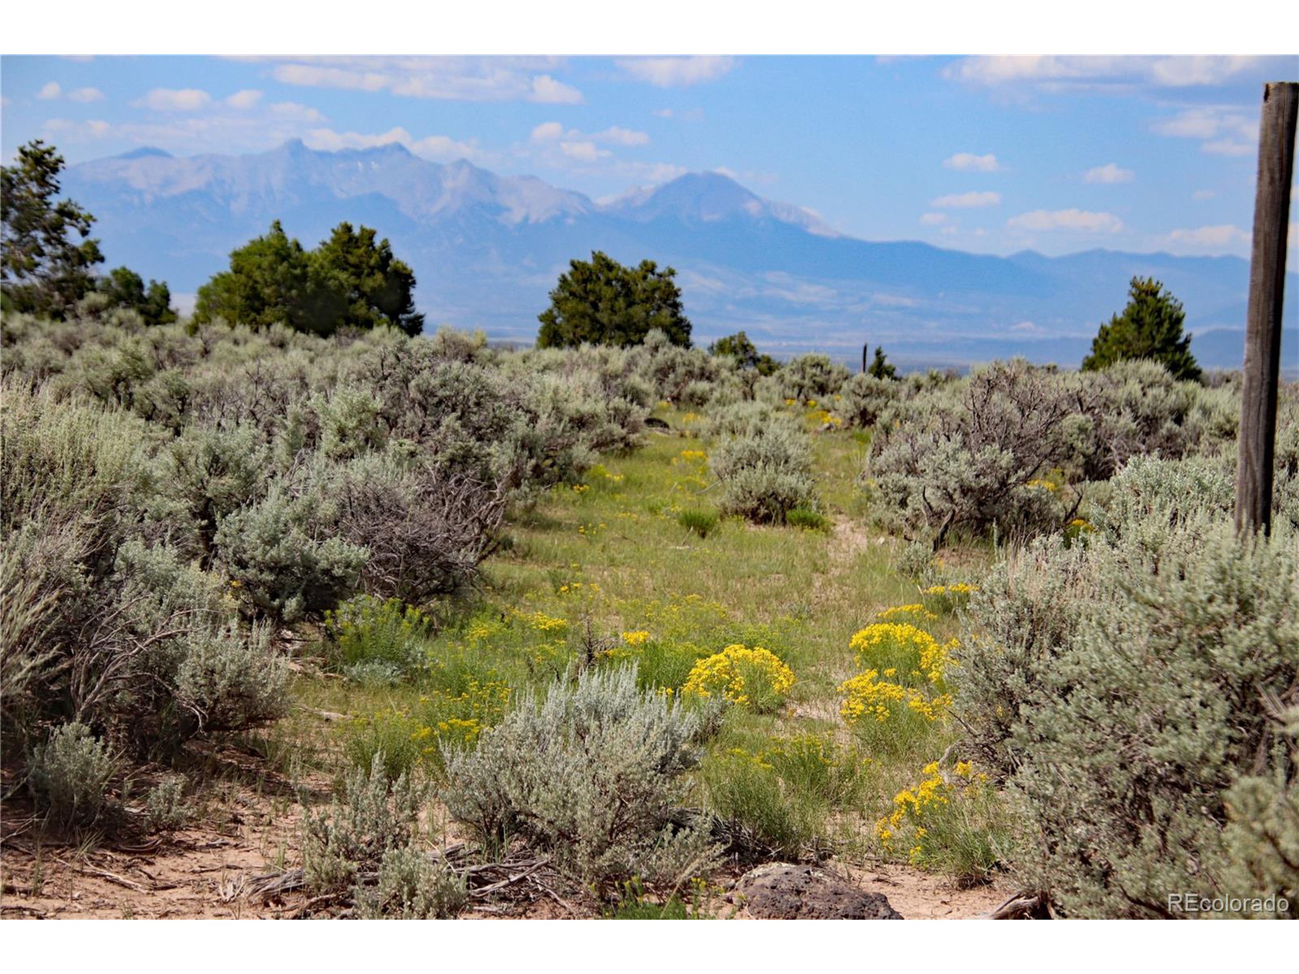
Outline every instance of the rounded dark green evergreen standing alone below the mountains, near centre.
{"type": "Polygon", "coordinates": [[[569,271],[551,291],[551,306],[538,316],[538,347],[635,345],[661,329],[673,344],[688,348],[690,319],[675,275],[650,260],[625,268],[600,251],[590,261],[569,261],[569,271]]]}

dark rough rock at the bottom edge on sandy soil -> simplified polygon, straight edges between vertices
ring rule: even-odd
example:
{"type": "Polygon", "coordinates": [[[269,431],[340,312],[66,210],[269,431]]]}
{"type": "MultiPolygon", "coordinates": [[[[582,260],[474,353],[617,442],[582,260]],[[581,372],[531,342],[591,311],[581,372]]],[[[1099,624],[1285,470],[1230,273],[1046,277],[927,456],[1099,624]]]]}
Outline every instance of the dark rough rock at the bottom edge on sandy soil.
{"type": "Polygon", "coordinates": [[[902,919],[883,893],[870,893],[817,866],[769,862],[735,884],[744,909],[760,919],[902,919]]]}

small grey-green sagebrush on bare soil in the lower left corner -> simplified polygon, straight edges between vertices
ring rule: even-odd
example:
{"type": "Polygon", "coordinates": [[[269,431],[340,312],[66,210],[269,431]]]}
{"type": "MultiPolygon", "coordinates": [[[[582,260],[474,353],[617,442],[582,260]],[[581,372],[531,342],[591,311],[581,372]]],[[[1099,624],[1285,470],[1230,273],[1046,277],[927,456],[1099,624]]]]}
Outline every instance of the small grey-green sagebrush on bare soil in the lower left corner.
{"type": "Polygon", "coordinates": [[[108,812],[108,787],[117,773],[117,760],[90,727],[65,723],[32,751],[27,762],[27,787],[36,808],[55,825],[84,827],[95,825],[108,812]]]}

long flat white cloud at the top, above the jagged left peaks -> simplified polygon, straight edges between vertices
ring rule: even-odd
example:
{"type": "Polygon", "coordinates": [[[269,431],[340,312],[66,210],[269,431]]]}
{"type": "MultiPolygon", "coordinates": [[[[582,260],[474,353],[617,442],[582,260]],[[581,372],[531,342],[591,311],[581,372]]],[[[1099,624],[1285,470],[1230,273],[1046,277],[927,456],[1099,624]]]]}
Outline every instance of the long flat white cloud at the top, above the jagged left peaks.
{"type": "Polygon", "coordinates": [[[284,84],[456,101],[574,105],[582,92],[553,77],[556,57],[297,57],[271,77],[284,84]]]}

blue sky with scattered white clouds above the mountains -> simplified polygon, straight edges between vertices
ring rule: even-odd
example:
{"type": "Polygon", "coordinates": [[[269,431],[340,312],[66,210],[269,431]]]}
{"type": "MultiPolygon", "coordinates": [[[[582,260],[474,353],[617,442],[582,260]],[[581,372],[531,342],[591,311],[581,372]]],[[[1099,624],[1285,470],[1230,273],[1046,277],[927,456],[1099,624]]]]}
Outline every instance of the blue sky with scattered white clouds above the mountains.
{"type": "Polygon", "coordinates": [[[865,239],[1248,256],[1261,83],[1296,75],[1225,56],[5,56],[0,94],[6,161],[34,138],[69,162],[396,140],[596,199],[721,170],[865,239]]]}

